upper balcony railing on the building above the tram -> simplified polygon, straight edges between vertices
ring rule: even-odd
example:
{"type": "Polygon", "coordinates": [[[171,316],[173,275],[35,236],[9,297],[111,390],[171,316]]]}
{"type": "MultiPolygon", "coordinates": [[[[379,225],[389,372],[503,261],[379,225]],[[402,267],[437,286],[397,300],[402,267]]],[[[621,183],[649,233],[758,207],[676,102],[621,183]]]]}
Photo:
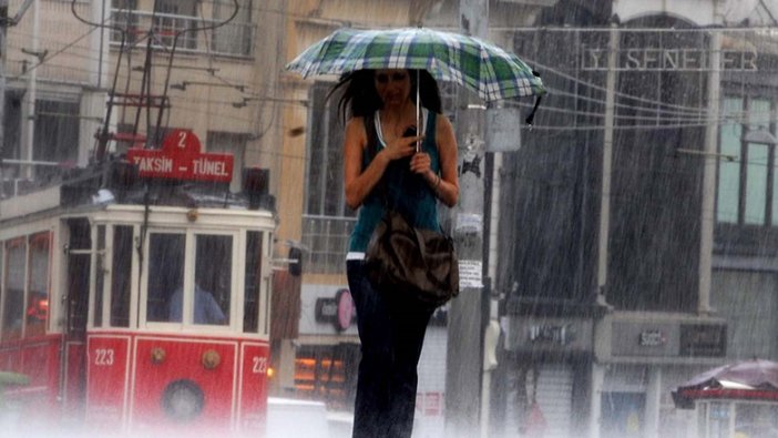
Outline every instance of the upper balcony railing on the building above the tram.
{"type": "MultiPolygon", "coordinates": [[[[196,31],[217,24],[218,21],[191,16],[175,16],[171,13],[153,13],[129,9],[114,9],[111,11],[111,21],[114,27],[124,29],[126,43],[140,42],[152,31],[152,47],[170,50],[176,44],[176,51],[185,53],[211,53],[217,55],[253,58],[254,33],[256,26],[253,23],[231,22],[213,30],[196,31]],[[178,34],[176,41],[175,35],[178,34]]],[[[122,32],[111,32],[111,44],[119,45],[122,32]]],[[[145,43],[144,43],[145,47],[145,43]]]]}

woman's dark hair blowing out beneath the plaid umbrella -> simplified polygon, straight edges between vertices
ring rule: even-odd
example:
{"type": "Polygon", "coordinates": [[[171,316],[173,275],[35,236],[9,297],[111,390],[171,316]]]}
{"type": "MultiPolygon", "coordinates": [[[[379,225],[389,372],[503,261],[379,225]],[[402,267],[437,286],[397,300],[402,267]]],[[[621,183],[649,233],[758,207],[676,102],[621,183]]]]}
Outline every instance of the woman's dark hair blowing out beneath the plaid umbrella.
{"type": "MultiPolygon", "coordinates": [[[[421,82],[419,88],[421,105],[436,113],[442,112],[443,105],[440,101],[438,82],[427,70],[408,70],[411,80],[411,101],[416,103],[417,72],[421,82]]],[[[373,82],[375,74],[375,70],[357,70],[346,73],[340,77],[338,83],[327,94],[327,99],[329,99],[342,89],[338,100],[338,112],[344,122],[349,116],[365,116],[381,109],[381,98],[376,92],[376,83],[373,82]]]]}

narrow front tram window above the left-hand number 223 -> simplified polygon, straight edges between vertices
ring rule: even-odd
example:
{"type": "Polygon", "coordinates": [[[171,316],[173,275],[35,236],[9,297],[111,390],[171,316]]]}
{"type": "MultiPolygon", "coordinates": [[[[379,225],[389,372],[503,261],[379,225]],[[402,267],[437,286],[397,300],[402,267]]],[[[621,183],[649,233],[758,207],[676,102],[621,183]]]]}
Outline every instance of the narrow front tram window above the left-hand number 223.
{"type": "Polygon", "coordinates": [[[113,230],[111,266],[111,325],[130,327],[130,275],[132,272],[132,226],[113,230]]]}

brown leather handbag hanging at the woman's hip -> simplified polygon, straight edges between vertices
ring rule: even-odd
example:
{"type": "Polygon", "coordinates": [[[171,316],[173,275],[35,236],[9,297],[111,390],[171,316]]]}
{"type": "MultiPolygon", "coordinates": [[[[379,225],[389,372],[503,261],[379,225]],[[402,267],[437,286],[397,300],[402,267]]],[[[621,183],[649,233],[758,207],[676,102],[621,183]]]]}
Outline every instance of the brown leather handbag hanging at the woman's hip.
{"type": "Polygon", "coordinates": [[[370,283],[385,293],[407,294],[438,307],[459,294],[459,262],[453,240],[412,227],[387,210],[370,237],[365,262],[370,283]]]}

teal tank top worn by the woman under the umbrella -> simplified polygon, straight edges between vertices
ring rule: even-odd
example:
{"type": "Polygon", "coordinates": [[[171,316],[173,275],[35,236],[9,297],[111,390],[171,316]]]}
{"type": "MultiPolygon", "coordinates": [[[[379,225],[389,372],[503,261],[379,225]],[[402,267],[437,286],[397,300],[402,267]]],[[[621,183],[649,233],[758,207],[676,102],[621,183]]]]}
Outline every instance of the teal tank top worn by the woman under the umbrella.
{"type": "MultiPolygon", "coordinates": [[[[440,174],[440,155],[436,144],[436,116],[432,111],[427,112],[427,125],[424,126],[424,141],[422,150],[430,155],[430,169],[440,174]]],[[[373,123],[373,118],[366,118],[367,123],[373,123]]],[[[372,135],[376,137],[375,135],[372,135]]],[[[368,135],[370,142],[370,135],[368,135]]],[[[373,143],[378,143],[375,140],[373,143]]],[[[368,144],[366,152],[377,151],[382,147],[379,144],[368,144]]],[[[376,153],[364,153],[362,170],[365,170],[376,153]]],[[[410,157],[395,160],[387,166],[381,182],[365,198],[359,207],[357,224],[351,232],[349,240],[349,252],[364,253],[372,235],[376,225],[380,222],[385,212],[385,204],[392,206],[413,226],[422,230],[440,231],[438,222],[438,200],[432,189],[424,181],[423,176],[410,171],[410,157]],[[386,189],[381,189],[381,186],[386,189]],[[386,196],[383,195],[386,193],[386,196]]]]}

